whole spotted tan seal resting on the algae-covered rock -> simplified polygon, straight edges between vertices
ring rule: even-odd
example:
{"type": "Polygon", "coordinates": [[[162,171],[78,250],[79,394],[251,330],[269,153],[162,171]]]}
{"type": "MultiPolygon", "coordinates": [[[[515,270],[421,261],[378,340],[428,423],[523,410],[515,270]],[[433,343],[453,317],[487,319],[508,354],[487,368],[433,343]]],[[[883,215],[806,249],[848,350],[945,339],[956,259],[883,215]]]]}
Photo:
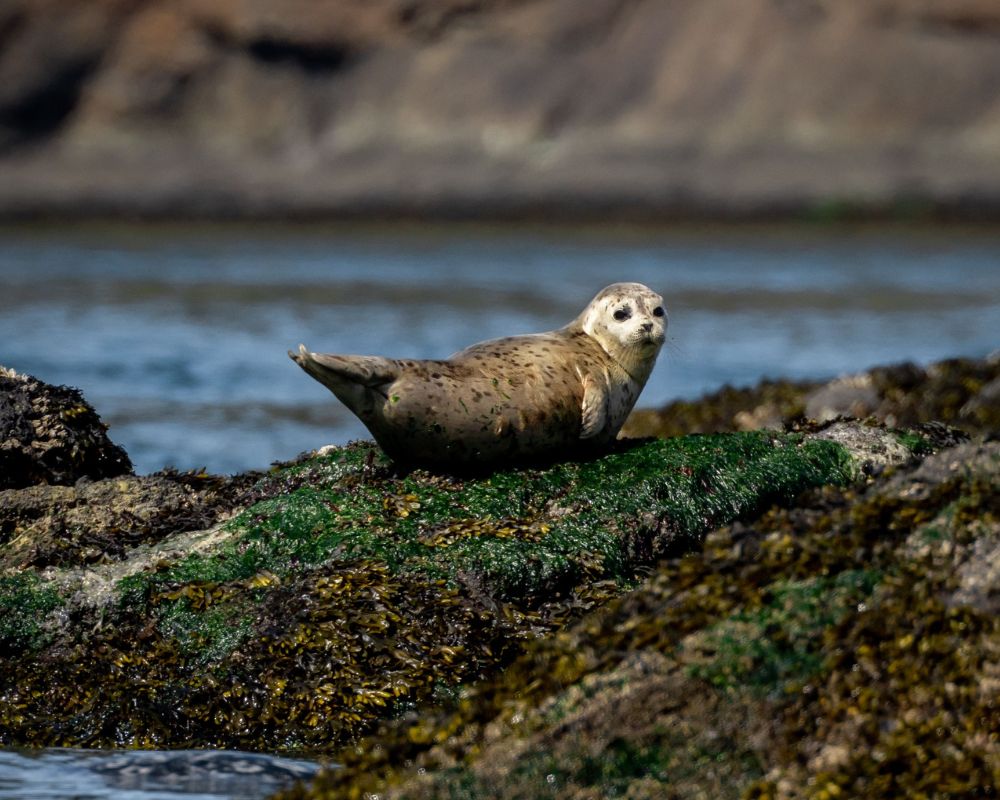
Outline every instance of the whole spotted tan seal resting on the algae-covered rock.
{"type": "Polygon", "coordinates": [[[600,291],[565,327],[493,339],[448,359],[288,355],[332,391],[395,461],[445,470],[565,457],[618,435],[656,363],[663,298],[600,291]]]}

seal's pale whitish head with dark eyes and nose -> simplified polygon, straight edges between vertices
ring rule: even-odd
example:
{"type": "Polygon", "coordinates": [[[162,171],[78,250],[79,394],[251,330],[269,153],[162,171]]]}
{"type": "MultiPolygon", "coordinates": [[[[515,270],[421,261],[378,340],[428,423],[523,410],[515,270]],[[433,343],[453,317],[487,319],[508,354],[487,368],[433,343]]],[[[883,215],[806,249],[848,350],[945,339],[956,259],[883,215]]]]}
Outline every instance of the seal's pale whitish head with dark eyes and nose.
{"type": "Polygon", "coordinates": [[[646,382],[667,334],[660,295],[641,283],[613,283],[590,301],[579,322],[635,380],[646,382]]]}

